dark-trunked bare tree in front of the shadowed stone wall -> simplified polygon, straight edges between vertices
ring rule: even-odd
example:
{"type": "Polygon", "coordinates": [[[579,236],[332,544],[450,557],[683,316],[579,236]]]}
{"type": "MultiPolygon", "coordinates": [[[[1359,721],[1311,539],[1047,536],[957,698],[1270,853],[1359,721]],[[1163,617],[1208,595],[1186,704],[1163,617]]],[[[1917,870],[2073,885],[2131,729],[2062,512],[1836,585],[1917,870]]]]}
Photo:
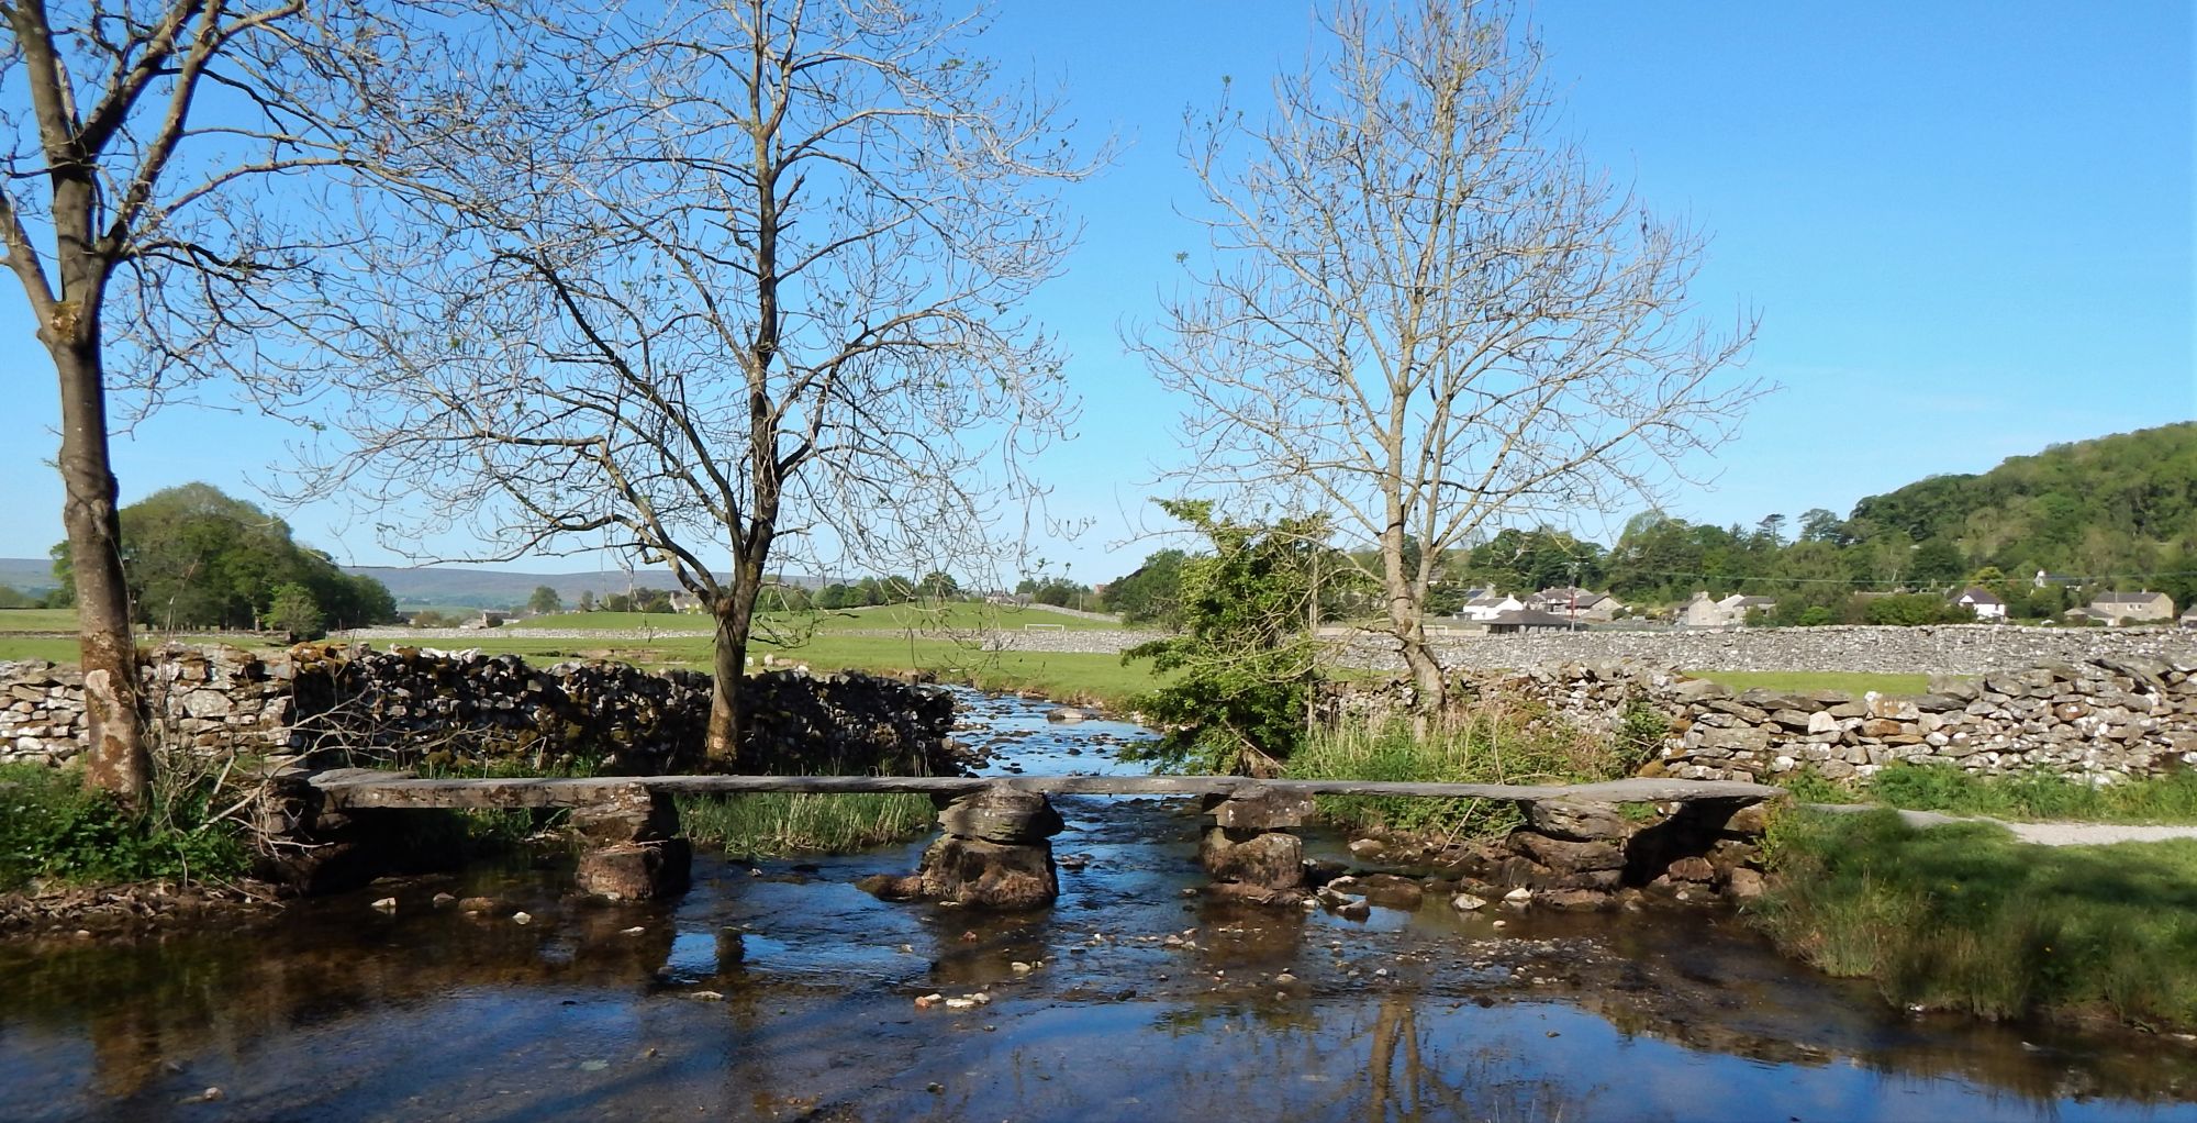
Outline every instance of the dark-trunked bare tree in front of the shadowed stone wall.
{"type": "Polygon", "coordinates": [[[428,514],[384,536],[415,556],[464,525],[475,558],[668,565],[716,620],[732,758],[771,565],[945,569],[1070,415],[1015,305],[1068,244],[1046,185],[1085,165],[973,31],[721,0],[450,42],[378,99],[409,207],[301,319],[354,440],[312,486],[428,514]]]}

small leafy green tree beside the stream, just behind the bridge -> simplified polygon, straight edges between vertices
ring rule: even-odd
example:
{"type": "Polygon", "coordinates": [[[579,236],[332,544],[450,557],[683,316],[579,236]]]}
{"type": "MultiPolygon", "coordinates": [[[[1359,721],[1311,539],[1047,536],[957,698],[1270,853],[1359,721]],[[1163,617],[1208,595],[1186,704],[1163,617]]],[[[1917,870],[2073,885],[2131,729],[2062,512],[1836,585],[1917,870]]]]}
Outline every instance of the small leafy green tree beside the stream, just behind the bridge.
{"type": "Polygon", "coordinates": [[[1169,730],[1151,752],[1171,767],[1268,776],[1305,736],[1320,679],[1316,578],[1340,569],[1323,516],[1272,525],[1222,521],[1213,503],[1160,503],[1213,543],[1182,560],[1182,633],[1123,653],[1173,679],[1138,699],[1169,730]]]}

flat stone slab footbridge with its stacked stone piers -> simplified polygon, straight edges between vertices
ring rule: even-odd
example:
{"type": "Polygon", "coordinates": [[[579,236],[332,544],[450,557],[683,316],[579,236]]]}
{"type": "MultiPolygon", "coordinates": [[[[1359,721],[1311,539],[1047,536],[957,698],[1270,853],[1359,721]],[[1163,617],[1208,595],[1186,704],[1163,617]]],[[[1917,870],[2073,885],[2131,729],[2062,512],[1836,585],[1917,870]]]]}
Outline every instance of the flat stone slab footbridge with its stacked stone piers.
{"type": "MultiPolygon", "coordinates": [[[[677,793],[927,793],[943,835],[910,877],[870,888],[901,899],[947,899],[984,908],[1030,908],[1059,892],[1050,837],[1061,831],[1048,796],[1195,796],[1206,829],[1200,857],[1215,888],[1274,899],[1303,888],[1303,844],[1294,835],[1314,796],[1507,800],[1516,804],[1725,804],[1782,796],[1736,780],[1632,778],[1595,785],[1437,785],[1382,780],[1257,780],[1248,776],[591,776],[420,778],[378,769],[294,771],[277,782],[272,815],[292,835],[345,826],[360,811],[389,809],[573,809],[582,837],[578,881],[609,899],[685,890],[692,848],[679,833],[677,793]]],[[[277,824],[279,826],[279,824],[277,824]]],[[[281,833],[281,831],[277,831],[281,833]]]]}

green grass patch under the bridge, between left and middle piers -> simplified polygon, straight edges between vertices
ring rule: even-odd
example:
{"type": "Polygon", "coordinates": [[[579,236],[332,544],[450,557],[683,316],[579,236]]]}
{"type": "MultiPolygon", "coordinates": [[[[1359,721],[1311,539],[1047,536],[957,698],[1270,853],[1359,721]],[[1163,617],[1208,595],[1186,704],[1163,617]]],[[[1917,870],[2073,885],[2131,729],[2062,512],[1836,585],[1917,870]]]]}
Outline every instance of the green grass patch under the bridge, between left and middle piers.
{"type": "Polygon", "coordinates": [[[681,796],[688,837],[734,857],[855,853],[927,833],[929,796],[756,791],[747,796],[681,796]]]}

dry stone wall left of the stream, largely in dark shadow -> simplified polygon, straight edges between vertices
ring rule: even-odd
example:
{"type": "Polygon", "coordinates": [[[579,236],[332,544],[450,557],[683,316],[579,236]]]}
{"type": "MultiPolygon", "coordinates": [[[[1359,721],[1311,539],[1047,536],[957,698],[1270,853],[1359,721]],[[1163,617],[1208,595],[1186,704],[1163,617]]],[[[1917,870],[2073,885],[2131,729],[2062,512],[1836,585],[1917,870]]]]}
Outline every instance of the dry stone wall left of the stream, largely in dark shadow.
{"type": "MultiPolygon", "coordinates": [[[[356,765],[516,760],[617,774],[701,767],[710,677],[628,664],[532,668],[516,655],[299,644],[259,657],[169,646],[149,659],[163,730],[189,747],[314,754],[356,765]]],[[[938,690],[870,675],[747,679],[745,771],[958,767],[938,690]]],[[[83,677],[0,664],[0,763],[64,765],[83,749],[83,677]]]]}

